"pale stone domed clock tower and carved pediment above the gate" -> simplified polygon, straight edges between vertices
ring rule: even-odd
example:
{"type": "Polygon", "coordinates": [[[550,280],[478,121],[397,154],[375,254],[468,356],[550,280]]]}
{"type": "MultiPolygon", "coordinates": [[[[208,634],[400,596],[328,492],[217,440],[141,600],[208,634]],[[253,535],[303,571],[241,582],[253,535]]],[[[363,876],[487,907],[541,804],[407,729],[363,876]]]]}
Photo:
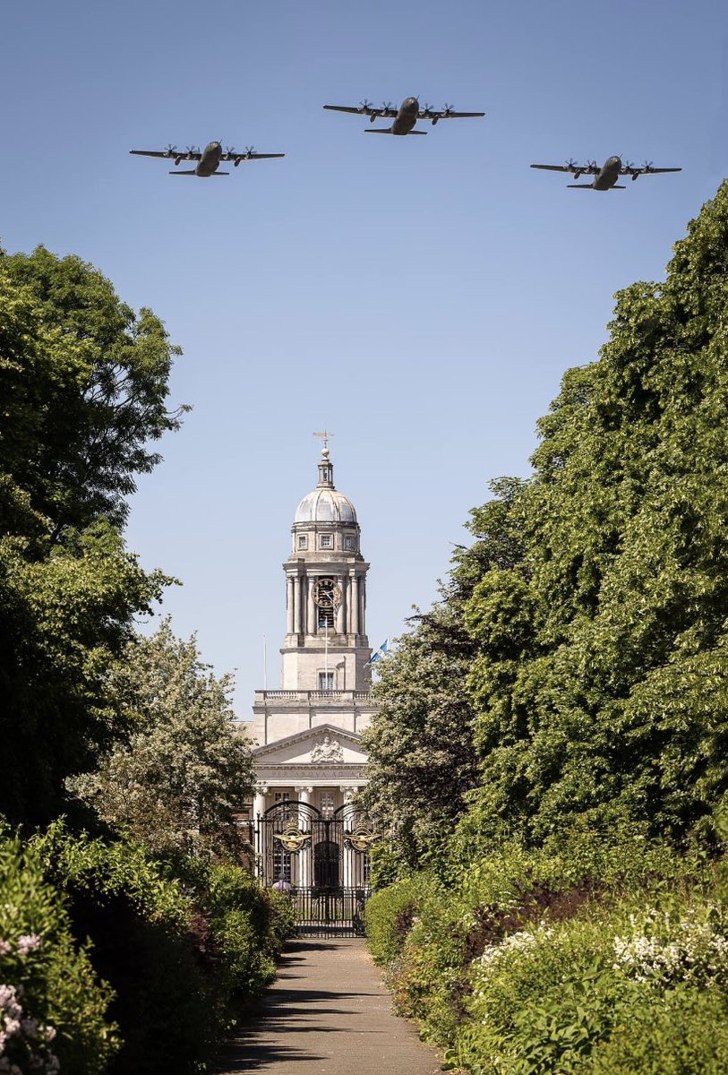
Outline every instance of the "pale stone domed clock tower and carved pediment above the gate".
{"type": "Polygon", "coordinates": [[[299,504],[286,575],[280,688],[257,690],[252,815],[299,800],[331,817],[366,778],[361,732],[374,713],[366,574],[356,512],[334,485],[324,441],[316,488],[299,504]]]}

